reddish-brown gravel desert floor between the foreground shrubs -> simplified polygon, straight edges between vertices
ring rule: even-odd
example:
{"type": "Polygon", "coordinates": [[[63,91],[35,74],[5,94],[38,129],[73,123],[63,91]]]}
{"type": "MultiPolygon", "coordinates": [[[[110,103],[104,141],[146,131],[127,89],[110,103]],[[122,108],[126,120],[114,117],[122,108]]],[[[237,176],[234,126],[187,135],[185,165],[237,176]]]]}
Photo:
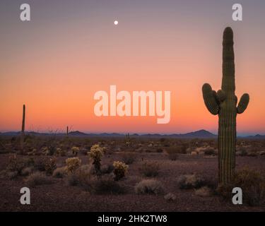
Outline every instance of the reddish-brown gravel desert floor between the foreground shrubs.
{"type": "MultiPolygon", "coordinates": [[[[0,155],[0,171],[8,166],[12,154],[0,155]]],[[[107,154],[102,165],[121,160],[123,151],[107,154]]],[[[22,155],[18,155],[23,157],[22,155]]],[[[39,156],[33,156],[33,159],[39,156]]],[[[57,166],[63,166],[67,157],[57,157],[57,166]]],[[[81,155],[82,164],[88,162],[87,155],[81,155]]],[[[237,156],[237,169],[248,166],[265,172],[265,157],[237,156]]],[[[177,178],[183,174],[197,174],[201,177],[216,180],[218,174],[218,157],[216,155],[179,154],[177,160],[170,160],[165,151],[161,153],[137,153],[134,162],[129,165],[126,177],[119,181],[124,186],[122,194],[92,194],[80,186],[69,186],[65,178],[51,177],[52,182],[30,187],[27,177],[18,176],[14,179],[3,174],[0,179],[0,210],[1,211],[264,211],[259,206],[233,205],[216,194],[200,196],[195,189],[179,189],[177,178]],[[134,186],[146,177],[141,172],[146,160],[159,165],[159,173],[155,177],[164,188],[164,194],[136,194],[134,186]],[[30,205],[20,204],[20,189],[30,188],[30,205]],[[165,194],[174,194],[175,198],[168,201],[165,194]]]]}

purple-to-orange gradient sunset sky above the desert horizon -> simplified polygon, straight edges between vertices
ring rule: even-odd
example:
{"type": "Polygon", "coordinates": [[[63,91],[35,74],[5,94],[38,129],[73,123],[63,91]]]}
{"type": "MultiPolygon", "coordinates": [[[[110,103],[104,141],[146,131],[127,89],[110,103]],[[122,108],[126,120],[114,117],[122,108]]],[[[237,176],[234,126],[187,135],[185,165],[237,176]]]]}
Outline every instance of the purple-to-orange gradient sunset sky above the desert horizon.
{"type": "Polygon", "coordinates": [[[201,85],[220,89],[222,33],[235,33],[236,95],[249,93],[240,134],[265,133],[265,1],[0,2],[0,131],[216,132],[201,85]],[[31,6],[21,22],[20,4],[31,6]],[[232,21],[232,4],[243,21],[232,21]],[[113,24],[119,20],[119,25],[113,24]],[[171,120],[95,117],[98,90],[170,90],[171,120]]]}

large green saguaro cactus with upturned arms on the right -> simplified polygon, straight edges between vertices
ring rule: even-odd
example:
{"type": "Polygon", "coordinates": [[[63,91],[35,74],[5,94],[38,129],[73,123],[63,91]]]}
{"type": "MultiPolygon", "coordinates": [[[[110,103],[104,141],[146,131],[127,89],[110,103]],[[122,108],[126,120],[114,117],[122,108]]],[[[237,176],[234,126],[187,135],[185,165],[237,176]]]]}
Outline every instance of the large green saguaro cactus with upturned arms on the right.
{"type": "Polygon", "coordinates": [[[235,173],[236,117],[247,108],[249,95],[245,93],[237,105],[235,95],[235,62],[233,32],[223,32],[223,80],[222,89],[212,90],[205,83],[202,87],[204,103],[211,114],[218,114],[218,177],[219,184],[228,184],[235,173]]]}

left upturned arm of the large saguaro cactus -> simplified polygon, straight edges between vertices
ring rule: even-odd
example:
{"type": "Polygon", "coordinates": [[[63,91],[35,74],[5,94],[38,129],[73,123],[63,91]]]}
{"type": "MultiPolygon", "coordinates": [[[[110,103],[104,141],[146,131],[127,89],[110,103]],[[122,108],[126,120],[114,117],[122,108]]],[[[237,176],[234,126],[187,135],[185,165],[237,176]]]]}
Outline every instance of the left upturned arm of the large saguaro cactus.
{"type": "Polygon", "coordinates": [[[204,103],[205,103],[208,111],[214,115],[218,114],[219,105],[218,105],[218,102],[216,100],[216,95],[215,95],[216,93],[213,93],[211,85],[209,85],[208,83],[205,83],[202,86],[202,93],[204,96],[204,103]]]}

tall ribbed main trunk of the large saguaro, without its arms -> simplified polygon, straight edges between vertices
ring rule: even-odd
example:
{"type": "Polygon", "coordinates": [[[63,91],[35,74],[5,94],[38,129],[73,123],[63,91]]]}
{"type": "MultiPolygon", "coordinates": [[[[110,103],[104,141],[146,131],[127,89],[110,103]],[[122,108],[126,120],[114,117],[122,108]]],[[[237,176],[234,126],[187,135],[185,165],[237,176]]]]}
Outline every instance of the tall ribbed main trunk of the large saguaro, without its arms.
{"type": "Polygon", "coordinates": [[[223,80],[225,100],[220,102],[218,125],[219,182],[230,182],[235,172],[236,117],[235,63],[232,30],[223,34],[223,80]]]}

